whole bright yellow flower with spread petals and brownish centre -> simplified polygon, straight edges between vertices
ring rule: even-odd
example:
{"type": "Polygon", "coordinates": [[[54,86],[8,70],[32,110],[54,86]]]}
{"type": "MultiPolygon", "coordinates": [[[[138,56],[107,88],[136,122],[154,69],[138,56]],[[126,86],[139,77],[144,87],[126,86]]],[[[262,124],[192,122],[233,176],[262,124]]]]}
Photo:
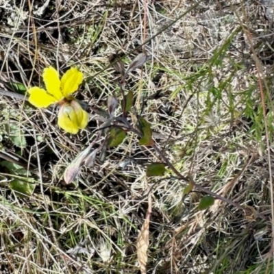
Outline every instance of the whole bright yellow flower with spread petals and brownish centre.
{"type": "Polygon", "coordinates": [[[82,83],[83,73],[77,68],[71,68],[60,79],[58,71],[49,66],[44,69],[42,78],[46,90],[38,86],[29,88],[29,103],[36,108],[47,108],[53,103],[59,103],[58,125],[71,134],[77,134],[79,128],[84,129],[88,124],[88,113],[71,96],[82,83]]]}

